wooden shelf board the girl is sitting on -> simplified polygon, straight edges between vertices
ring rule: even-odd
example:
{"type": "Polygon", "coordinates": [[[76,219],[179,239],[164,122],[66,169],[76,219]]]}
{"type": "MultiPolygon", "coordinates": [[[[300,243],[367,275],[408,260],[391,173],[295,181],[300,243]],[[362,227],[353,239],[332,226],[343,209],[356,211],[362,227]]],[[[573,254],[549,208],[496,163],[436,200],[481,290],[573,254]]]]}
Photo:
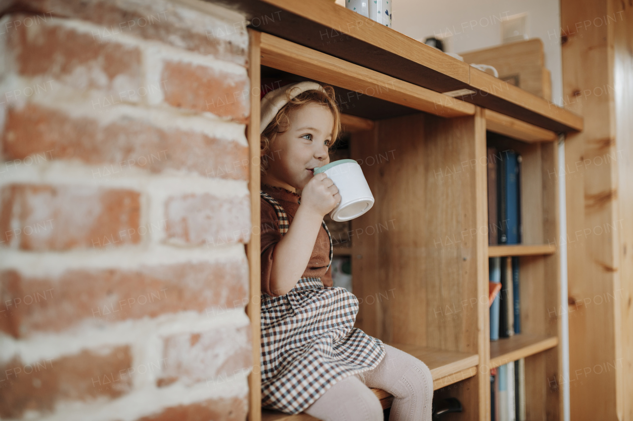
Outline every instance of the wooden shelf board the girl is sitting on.
{"type": "MultiPolygon", "coordinates": [[[[389,343],[388,345],[401,351],[410,353],[413,357],[423,361],[433,376],[433,390],[448,386],[463,379],[468,379],[477,374],[479,355],[463,352],[438,350],[437,348],[425,348],[417,345],[389,343]]],[[[379,398],[382,408],[391,407],[393,396],[382,389],[371,388],[379,398]]],[[[288,415],[279,411],[261,410],[262,421],[308,421],[316,420],[308,414],[288,415]]]]}

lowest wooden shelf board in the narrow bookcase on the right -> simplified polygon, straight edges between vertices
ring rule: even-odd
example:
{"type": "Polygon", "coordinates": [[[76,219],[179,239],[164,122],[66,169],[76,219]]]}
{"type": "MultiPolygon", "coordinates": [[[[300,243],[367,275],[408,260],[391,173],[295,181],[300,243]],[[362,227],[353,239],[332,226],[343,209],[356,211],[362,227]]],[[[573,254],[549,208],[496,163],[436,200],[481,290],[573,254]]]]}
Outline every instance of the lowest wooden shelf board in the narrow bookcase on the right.
{"type": "Polygon", "coordinates": [[[490,343],[490,367],[499,367],[558,345],[556,336],[520,333],[490,343]]]}

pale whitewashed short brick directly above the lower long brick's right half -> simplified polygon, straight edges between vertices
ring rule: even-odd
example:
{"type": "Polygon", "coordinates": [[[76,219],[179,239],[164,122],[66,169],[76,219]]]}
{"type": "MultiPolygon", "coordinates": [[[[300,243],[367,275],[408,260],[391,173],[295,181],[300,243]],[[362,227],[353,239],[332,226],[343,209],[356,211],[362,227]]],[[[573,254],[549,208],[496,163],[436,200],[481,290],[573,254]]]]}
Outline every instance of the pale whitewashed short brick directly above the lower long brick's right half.
{"type": "Polygon", "coordinates": [[[166,238],[209,247],[248,243],[251,204],[248,195],[216,197],[209,193],[170,197],[165,203],[166,238]]]}

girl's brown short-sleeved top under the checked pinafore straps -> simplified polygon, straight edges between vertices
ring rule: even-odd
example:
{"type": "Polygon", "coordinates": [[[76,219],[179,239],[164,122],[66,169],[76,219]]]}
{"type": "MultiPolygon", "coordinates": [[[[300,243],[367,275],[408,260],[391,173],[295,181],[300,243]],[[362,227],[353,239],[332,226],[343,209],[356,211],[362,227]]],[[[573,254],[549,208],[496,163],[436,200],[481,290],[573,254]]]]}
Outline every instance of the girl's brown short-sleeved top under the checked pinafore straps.
{"type": "MultiPolygon", "coordinates": [[[[299,196],[297,193],[289,192],[285,188],[261,185],[261,190],[268,193],[277,200],[288,215],[289,226],[292,226],[294,215],[299,209],[299,196]]],[[[265,198],[261,200],[261,292],[269,296],[279,296],[270,291],[270,271],[273,264],[273,250],[275,245],[282,239],[279,232],[279,219],[275,213],[275,208],[265,198]]],[[[327,269],[330,263],[330,239],[321,226],[316,236],[315,247],[312,250],[308,267],[303,272],[303,277],[321,278],[324,286],[334,286],[332,283],[332,267],[327,269]],[[326,272],[327,269],[327,272],[326,272]]],[[[299,279],[297,279],[299,281],[299,279]]]]}

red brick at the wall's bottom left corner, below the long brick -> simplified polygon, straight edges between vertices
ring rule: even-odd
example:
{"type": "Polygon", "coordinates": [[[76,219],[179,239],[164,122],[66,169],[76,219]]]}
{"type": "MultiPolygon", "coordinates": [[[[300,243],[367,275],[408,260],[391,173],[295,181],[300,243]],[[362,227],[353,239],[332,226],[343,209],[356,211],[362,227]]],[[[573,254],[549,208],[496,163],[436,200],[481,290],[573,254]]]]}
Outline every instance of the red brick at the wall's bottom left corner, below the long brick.
{"type": "Polygon", "coordinates": [[[128,346],[85,350],[76,355],[25,364],[14,358],[0,367],[0,417],[25,411],[53,412],[57,401],[113,399],[130,391],[128,346]]]}

